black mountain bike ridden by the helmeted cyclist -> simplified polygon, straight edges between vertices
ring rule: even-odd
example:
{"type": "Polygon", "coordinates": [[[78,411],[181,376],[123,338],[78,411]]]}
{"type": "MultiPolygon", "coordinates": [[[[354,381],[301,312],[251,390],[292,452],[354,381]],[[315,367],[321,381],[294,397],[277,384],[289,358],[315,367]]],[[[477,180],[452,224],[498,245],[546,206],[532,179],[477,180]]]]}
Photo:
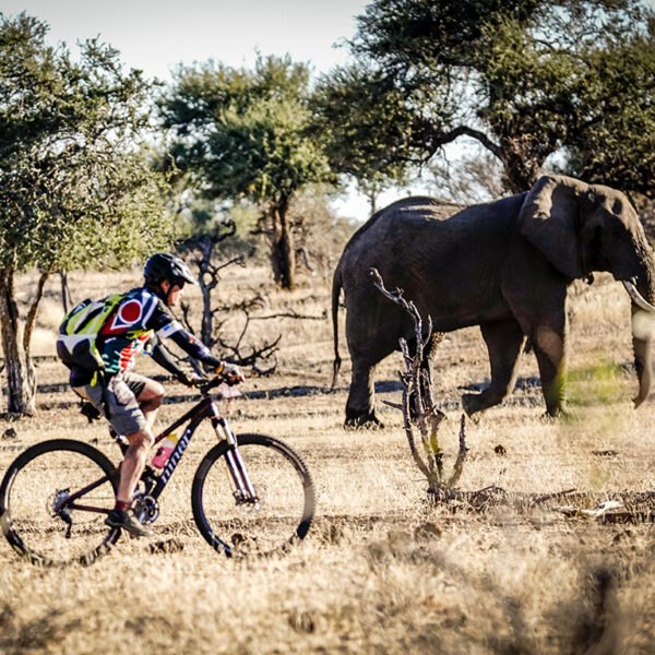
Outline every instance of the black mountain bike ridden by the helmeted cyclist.
{"type": "MultiPolygon", "coordinates": [[[[145,467],[133,497],[136,517],[144,524],[156,521],[162,492],[196,428],[209,420],[218,443],[204,455],[193,477],[191,507],[198,529],[227,557],[289,549],[305,538],[314,514],[314,487],[307,466],[277,439],[233,433],[227,412],[218,405],[241,394],[222,378],[198,389],[200,402],[155,439],[157,444],[186,426],[164,468],[145,467]]],[[[124,455],[127,441],[116,440],[124,455]]],[[[114,508],[119,466],[82,441],[53,439],[28,448],[0,485],[2,533],[14,550],[35,564],[91,564],[120,537],[120,528],[105,525],[114,508]]]]}

